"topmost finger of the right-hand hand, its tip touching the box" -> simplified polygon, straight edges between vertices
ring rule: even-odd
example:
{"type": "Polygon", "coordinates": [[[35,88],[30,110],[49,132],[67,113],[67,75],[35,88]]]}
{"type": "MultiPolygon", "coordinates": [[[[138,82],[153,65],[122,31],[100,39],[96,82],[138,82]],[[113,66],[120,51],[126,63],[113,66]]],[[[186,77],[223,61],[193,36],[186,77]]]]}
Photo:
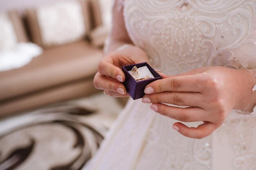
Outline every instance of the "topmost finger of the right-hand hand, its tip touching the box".
{"type": "Polygon", "coordinates": [[[146,86],[144,93],[159,92],[202,92],[204,88],[200,74],[188,76],[174,76],[154,81],[146,86]]]}

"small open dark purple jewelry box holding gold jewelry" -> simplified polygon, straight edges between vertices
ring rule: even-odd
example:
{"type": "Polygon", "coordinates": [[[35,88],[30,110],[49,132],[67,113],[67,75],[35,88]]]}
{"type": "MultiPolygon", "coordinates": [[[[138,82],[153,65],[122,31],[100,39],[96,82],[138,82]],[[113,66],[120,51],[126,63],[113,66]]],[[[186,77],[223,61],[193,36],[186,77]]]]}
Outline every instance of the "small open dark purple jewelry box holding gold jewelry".
{"type": "Polygon", "coordinates": [[[147,62],[132,64],[132,65],[125,65],[122,67],[122,70],[126,77],[125,81],[124,81],[124,86],[126,87],[126,92],[129,93],[129,95],[132,97],[133,100],[143,98],[143,96],[145,95],[144,89],[149,83],[152,83],[153,81],[162,79],[162,77],[152,67],[150,67],[150,65],[147,62]],[[143,81],[136,81],[128,72],[128,71],[132,70],[132,68],[134,66],[137,66],[137,68],[147,66],[155,78],[151,78],[151,79],[143,80],[143,81]]]}

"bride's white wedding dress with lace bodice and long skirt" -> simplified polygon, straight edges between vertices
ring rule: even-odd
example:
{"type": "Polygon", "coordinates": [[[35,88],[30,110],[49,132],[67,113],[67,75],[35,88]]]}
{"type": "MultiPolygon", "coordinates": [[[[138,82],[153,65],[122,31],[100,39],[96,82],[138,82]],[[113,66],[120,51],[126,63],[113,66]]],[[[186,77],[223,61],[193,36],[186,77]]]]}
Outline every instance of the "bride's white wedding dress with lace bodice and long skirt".
{"type": "MultiPolygon", "coordinates": [[[[124,5],[133,43],[165,74],[208,65],[256,68],[256,0],[116,3],[124,5]]],[[[256,170],[256,109],[248,115],[232,110],[212,135],[191,139],[172,129],[176,120],[149,106],[129,100],[85,170],[256,170]]]]}

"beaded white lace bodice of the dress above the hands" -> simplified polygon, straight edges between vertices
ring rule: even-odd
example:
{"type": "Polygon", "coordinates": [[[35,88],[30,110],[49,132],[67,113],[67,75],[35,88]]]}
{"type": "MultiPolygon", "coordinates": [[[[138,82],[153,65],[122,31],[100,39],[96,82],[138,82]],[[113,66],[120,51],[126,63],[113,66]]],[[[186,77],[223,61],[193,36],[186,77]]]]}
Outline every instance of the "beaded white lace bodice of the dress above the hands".
{"type": "Polygon", "coordinates": [[[255,10],[255,0],[127,0],[124,19],[155,68],[177,74],[207,65],[255,68],[255,10]]]}

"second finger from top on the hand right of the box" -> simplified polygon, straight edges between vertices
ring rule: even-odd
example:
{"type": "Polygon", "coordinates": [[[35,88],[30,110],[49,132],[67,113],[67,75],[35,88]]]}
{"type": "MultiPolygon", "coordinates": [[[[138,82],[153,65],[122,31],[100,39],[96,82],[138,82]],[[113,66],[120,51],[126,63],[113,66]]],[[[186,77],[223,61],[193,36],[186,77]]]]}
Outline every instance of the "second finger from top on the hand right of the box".
{"type": "Polygon", "coordinates": [[[161,92],[156,94],[146,94],[142,98],[142,102],[201,107],[204,103],[204,98],[202,94],[195,92],[161,92]]]}

